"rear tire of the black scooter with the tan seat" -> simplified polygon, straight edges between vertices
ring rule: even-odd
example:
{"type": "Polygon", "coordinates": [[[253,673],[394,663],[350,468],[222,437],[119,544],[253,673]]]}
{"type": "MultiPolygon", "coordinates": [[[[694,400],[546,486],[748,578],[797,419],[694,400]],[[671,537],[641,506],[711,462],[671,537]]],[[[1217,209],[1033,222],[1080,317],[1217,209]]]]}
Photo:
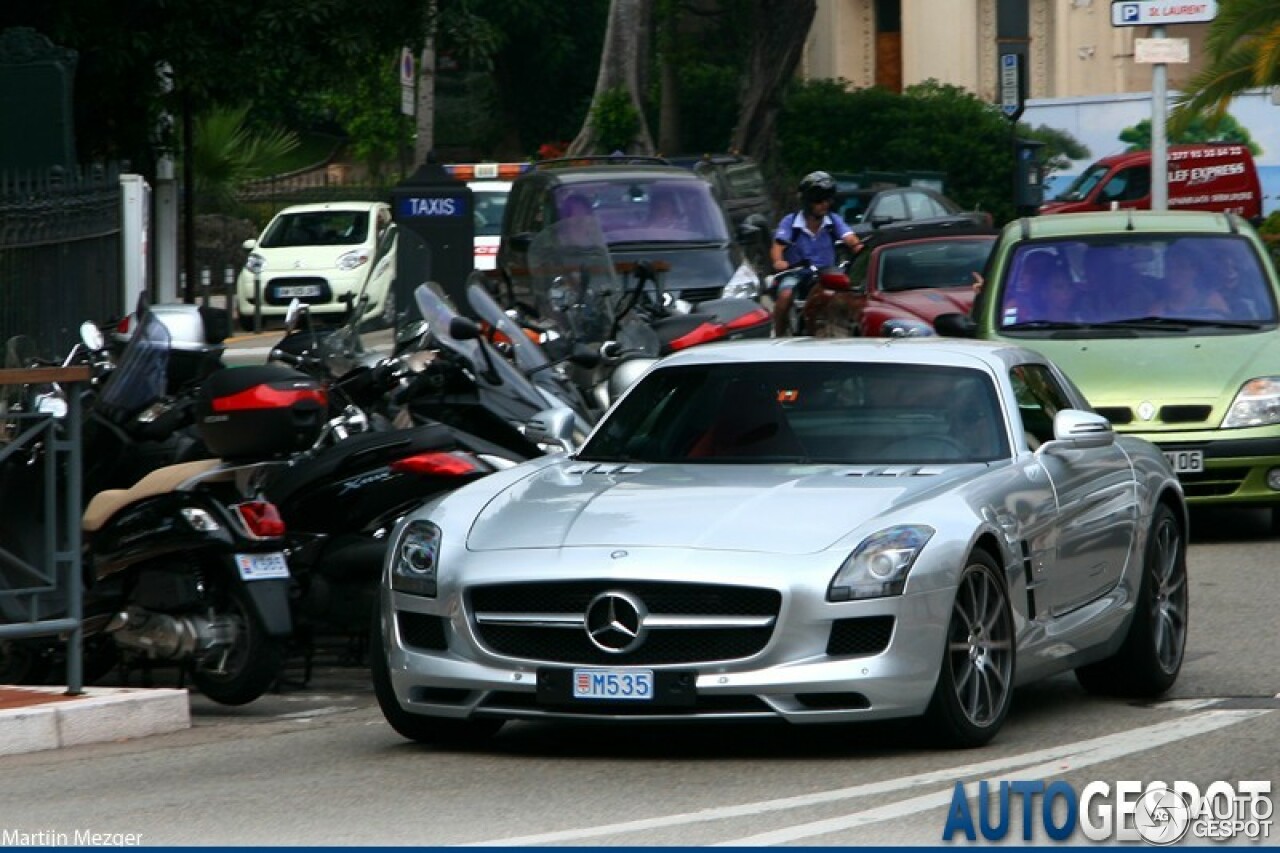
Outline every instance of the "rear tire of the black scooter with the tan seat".
{"type": "Polygon", "coordinates": [[[266,633],[239,584],[227,590],[220,607],[237,621],[236,643],[225,654],[197,662],[191,681],[219,704],[247,704],[271,689],[279,676],[285,638],[266,633]]]}

